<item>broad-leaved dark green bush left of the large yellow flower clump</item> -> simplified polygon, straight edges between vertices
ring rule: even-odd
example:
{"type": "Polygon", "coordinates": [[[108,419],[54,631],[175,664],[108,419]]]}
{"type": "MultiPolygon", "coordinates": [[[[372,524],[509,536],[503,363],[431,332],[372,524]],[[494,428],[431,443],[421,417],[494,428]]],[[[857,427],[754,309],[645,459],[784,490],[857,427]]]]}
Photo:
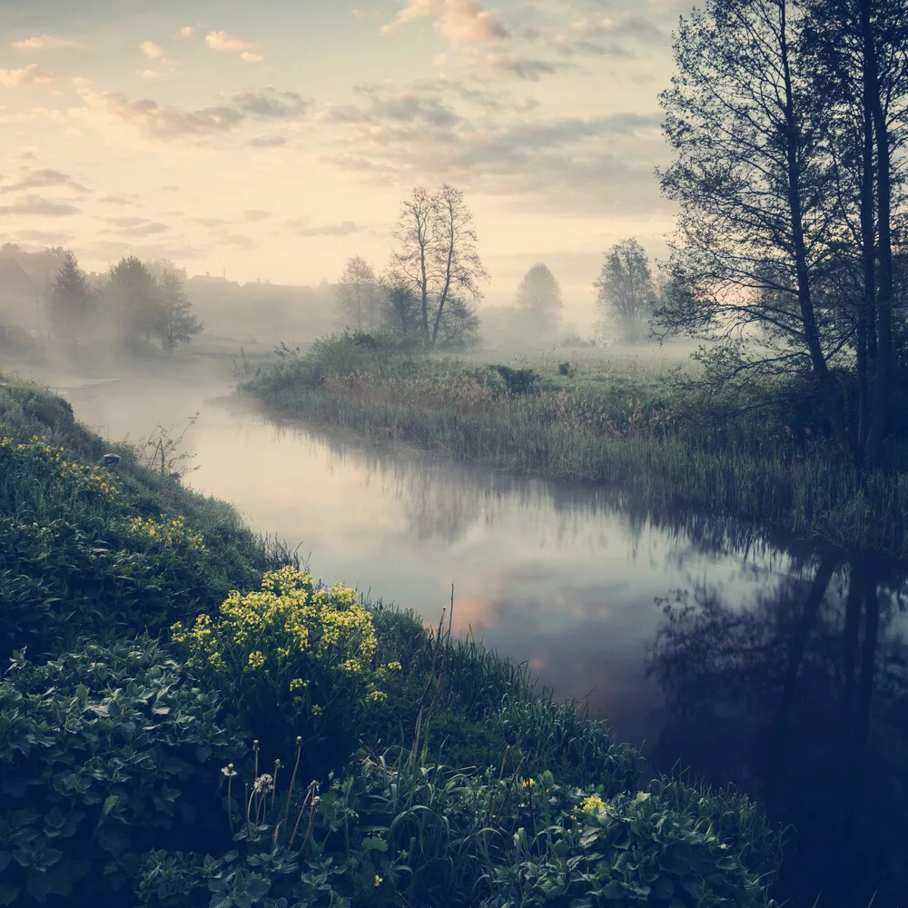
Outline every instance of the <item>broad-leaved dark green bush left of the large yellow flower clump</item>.
{"type": "Polygon", "coordinates": [[[87,644],[0,682],[0,904],[111,903],[153,848],[220,850],[219,701],[153,640],[87,644]]]}

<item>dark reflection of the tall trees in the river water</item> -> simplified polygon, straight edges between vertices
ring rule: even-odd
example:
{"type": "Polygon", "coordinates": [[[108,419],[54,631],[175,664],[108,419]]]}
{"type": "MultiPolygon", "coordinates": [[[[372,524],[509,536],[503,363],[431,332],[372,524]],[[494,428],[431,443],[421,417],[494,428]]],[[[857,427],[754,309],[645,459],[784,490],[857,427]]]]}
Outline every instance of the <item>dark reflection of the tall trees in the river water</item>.
{"type": "MultiPolygon", "coordinates": [[[[706,588],[666,606],[650,674],[666,694],[657,764],[732,781],[795,824],[795,905],[894,905],[908,890],[904,577],[833,557],[753,607],[706,588]],[[901,628],[899,626],[902,626],[901,628]]],[[[902,899],[903,901],[903,899],[902,899]]]]}

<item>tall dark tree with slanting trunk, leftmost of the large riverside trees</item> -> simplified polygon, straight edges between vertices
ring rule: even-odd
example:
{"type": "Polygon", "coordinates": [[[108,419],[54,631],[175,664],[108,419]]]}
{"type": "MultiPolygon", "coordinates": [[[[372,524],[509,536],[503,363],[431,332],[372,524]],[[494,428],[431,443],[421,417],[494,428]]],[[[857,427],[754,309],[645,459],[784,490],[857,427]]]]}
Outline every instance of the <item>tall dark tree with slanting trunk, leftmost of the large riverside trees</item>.
{"type": "Polygon", "coordinates": [[[804,11],[789,0],[708,0],[682,19],[678,73],[661,95],[678,203],[673,265],[696,307],[660,320],[716,341],[710,377],[812,370],[838,445],[851,442],[830,360],[843,339],[818,311],[828,277],[833,192],[800,53],[804,11]],[[764,328],[759,347],[742,329],[764,328]]]}

